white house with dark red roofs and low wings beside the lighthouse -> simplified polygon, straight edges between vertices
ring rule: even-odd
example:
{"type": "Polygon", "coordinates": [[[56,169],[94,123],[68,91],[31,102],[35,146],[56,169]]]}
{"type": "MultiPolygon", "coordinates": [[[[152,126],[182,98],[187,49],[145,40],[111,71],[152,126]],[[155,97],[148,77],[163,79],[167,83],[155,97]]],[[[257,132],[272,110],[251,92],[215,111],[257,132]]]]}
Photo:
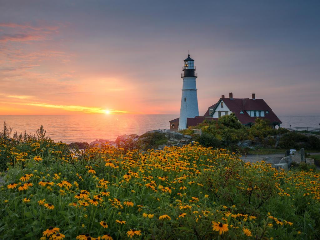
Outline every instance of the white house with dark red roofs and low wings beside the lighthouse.
{"type": "MultiPolygon", "coordinates": [[[[280,127],[282,122],[268,106],[263,99],[256,99],[252,93],[252,98],[233,98],[232,92],[229,93],[229,98],[221,96],[220,100],[208,108],[204,116],[196,116],[187,118],[187,127],[195,126],[202,123],[204,119],[217,120],[220,116],[234,113],[240,123],[251,127],[257,117],[268,119],[273,128],[280,127]]],[[[170,121],[170,130],[176,131],[179,129],[179,118],[170,121]]]]}

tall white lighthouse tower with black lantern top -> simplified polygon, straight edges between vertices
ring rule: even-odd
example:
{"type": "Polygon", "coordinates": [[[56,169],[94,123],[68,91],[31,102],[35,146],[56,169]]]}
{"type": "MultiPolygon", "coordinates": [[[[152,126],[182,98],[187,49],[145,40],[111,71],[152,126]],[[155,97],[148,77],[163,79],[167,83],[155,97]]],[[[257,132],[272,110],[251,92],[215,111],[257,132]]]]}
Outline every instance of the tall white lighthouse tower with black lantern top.
{"type": "Polygon", "coordinates": [[[182,84],[182,97],[180,107],[179,129],[187,128],[187,117],[199,116],[198,98],[196,88],[196,78],[194,60],[188,58],[184,60],[183,73],[181,77],[183,79],[182,84]]]}

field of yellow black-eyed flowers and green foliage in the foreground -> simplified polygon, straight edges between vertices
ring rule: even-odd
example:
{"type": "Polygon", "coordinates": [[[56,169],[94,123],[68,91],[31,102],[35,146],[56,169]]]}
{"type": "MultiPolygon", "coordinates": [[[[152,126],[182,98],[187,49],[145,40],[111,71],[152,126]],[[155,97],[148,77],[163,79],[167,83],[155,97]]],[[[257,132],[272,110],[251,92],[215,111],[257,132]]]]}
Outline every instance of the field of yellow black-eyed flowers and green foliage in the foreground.
{"type": "Polygon", "coordinates": [[[320,174],[186,145],[0,141],[0,239],[319,239],[320,174]]]}

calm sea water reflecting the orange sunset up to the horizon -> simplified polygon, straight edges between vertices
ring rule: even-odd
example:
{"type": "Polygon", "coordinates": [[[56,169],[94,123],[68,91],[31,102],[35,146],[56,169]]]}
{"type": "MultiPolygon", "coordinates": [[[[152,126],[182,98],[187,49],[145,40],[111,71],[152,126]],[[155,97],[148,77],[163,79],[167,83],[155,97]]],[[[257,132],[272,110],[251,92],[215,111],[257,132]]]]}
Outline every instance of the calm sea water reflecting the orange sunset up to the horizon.
{"type": "MultiPolygon", "coordinates": [[[[168,129],[169,121],[178,115],[0,115],[0,124],[6,123],[18,133],[35,134],[44,125],[47,135],[55,141],[92,142],[96,139],[116,140],[122,134],[142,134],[155,129],[168,129]]],[[[319,127],[320,115],[279,116],[282,127],[319,127]]],[[[0,129],[2,126],[0,125],[0,129]]]]}

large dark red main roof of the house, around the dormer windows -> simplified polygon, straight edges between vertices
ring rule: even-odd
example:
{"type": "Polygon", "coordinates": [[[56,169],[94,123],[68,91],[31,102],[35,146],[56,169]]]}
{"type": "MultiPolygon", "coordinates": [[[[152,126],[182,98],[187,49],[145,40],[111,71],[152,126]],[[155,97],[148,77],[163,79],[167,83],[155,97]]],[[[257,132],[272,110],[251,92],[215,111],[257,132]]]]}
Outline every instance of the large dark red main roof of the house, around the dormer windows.
{"type": "MultiPolygon", "coordinates": [[[[229,108],[230,111],[236,114],[237,118],[242,124],[254,123],[257,117],[251,117],[246,111],[249,110],[263,110],[268,111],[265,113],[264,117],[259,117],[263,119],[268,119],[270,123],[282,123],[272,109],[263,99],[250,99],[250,98],[221,98],[224,104],[229,108]],[[241,114],[241,110],[243,114],[241,114]]],[[[216,105],[216,104],[215,104],[216,105]]]]}

